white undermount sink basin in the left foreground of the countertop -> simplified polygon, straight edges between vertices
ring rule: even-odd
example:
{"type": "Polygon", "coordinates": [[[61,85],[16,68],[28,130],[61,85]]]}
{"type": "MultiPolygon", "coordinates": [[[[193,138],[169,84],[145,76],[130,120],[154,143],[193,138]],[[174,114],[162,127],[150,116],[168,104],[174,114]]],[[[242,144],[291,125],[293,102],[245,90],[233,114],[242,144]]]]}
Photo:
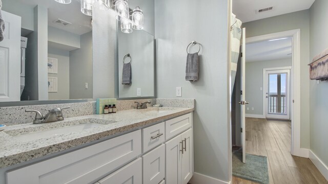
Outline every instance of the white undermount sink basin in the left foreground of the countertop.
{"type": "Polygon", "coordinates": [[[20,135],[15,135],[17,140],[22,141],[22,142],[29,142],[29,141],[34,141],[38,139],[44,139],[48,137],[52,137],[55,135],[63,135],[66,133],[70,133],[73,131],[81,131],[81,130],[86,130],[90,128],[95,128],[99,126],[104,126],[104,124],[99,124],[99,123],[82,123],[82,124],[77,124],[77,125],[71,125],[67,127],[60,127],[56,129],[49,129],[49,130],[42,130],[42,131],[36,131],[36,132],[31,132],[31,133],[26,133],[26,134],[20,134],[20,135]]]}

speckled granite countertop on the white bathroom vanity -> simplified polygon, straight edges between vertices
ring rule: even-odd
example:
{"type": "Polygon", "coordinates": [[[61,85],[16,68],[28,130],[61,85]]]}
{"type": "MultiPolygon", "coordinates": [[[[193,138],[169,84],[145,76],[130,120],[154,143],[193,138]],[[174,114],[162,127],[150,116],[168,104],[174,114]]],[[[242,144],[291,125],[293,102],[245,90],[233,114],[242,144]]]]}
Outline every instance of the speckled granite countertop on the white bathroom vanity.
{"type": "Polygon", "coordinates": [[[187,114],[193,110],[194,108],[185,107],[148,107],[147,109],[121,110],[111,114],[67,118],[60,122],[7,126],[4,131],[0,131],[0,168],[90,143],[107,136],[140,129],[187,114]],[[17,139],[18,137],[13,137],[87,122],[101,124],[101,126],[52,135],[33,141],[22,141],[17,139]]]}

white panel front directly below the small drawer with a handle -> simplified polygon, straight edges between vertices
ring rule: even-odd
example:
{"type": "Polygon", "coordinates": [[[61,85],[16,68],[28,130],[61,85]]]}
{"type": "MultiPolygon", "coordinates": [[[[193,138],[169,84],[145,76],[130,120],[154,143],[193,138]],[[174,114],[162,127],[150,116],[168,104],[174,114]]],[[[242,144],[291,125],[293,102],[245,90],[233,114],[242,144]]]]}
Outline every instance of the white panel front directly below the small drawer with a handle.
{"type": "Polygon", "coordinates": [[[165,177],[165,145],[142,156],[143,184],[158,184],[165,177]]]}

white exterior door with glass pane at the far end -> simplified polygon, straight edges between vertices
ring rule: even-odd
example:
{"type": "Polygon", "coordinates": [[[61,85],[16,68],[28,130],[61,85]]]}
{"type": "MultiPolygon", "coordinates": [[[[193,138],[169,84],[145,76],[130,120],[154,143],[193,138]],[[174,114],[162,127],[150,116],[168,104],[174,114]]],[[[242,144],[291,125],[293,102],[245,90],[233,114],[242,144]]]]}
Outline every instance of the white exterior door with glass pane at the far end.
{"type": "Polygon", "coordinates": [[[265,68],[265,117],[290,120],[290,67],[265,68]]]}

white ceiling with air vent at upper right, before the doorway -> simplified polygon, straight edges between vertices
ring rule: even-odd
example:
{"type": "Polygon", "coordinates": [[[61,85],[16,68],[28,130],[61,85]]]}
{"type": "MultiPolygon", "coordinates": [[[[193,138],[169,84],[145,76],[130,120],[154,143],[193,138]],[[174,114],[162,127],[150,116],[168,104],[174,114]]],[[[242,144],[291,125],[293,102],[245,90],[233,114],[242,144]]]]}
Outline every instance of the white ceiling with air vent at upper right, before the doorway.
{"type": "Polygon", "coordinates": [[[315,0],[233,0],[232,11],[242,22],[306,10],[315,0]],[[256,14],[256,10],[273,7],[273,10],[256,14]]]}

